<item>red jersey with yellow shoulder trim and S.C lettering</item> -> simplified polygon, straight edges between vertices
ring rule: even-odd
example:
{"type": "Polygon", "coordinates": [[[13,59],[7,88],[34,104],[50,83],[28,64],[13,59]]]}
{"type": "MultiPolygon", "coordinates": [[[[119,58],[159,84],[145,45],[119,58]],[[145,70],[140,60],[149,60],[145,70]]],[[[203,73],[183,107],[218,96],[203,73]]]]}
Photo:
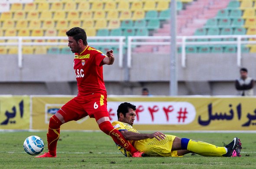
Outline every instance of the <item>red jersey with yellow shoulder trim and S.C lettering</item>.
{"type": "Polygon", "coordinates": [[[107,56],[104,53],[90,46],[87,46],[80,54],[75,53],[74,71],[78,87],[77,96],[85,96],[94,92],[107,94],[101,65],[105,57],[107,56]]]}

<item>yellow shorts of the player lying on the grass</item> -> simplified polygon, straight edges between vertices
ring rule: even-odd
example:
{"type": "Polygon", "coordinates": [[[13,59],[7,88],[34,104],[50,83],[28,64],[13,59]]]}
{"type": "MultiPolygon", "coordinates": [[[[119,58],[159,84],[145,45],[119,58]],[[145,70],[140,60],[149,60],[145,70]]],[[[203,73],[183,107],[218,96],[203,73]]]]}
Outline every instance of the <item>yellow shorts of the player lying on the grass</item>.
{"type": "Polygon", "coordinates": [[[164,140],[156,138],[135,141],[135,149],[146,153],[148,156],[177,157],[177,151],[171,151],[176,136],[165,135],[164,140]]]}

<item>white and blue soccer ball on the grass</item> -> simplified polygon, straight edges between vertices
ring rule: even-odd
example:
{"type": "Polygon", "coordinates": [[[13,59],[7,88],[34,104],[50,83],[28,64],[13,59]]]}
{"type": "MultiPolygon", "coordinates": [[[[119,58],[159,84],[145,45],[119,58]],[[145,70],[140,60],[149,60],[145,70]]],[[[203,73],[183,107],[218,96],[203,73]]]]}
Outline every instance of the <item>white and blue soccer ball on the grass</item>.
{"type": "Polygon", "coordinates": [[[43,140],[39,136],[29,136],[23,143],[26,153],[35,156],[42,153],[44,148],[43,140]]]}

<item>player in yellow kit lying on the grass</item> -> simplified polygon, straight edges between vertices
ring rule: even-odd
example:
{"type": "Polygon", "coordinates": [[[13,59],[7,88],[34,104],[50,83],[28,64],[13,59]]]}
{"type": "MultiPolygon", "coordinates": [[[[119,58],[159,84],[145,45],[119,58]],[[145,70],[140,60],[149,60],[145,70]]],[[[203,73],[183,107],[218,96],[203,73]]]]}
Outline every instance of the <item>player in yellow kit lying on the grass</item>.
{"type": "MultiPolygon", "coordinates": [[[[179,138],[161,132],[151,134],[138,133],[132,127],[136,116],[135,110],[136,106],[133,104],[127,102],[120,104],[117,110],[118,121],[114,121],[112,125],[131,142],[135,149],[144,152],[146,156],[177,157],[187,153],[197,153],[201,156],[240,156],[242,144],[237,137],[228,145],[225,144],[224,147],[219,147],[202,141],[179,138]]],[[[131,153],[126,149],[118,144],[117,146],[125,156],[131,156],[131,153]]]]}

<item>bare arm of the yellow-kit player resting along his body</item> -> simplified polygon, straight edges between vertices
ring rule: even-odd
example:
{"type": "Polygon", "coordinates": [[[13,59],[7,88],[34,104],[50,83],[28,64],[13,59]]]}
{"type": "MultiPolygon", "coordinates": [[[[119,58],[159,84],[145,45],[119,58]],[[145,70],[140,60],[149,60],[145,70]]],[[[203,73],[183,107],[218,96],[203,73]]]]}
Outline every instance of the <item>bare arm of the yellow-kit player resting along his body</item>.
{"type": "Polygon", "coordinates": [[[122,130],[120,132],[127,140],[142,140],[142,139],[156,138],[157,140],[160,141],[160,140],[165,139],[164,133],[161,133],[161,132],[155,132],[155,133],[151,133],[151,134],[135,133],[135,132],[127,131],[127,130],[122,130]]]}

